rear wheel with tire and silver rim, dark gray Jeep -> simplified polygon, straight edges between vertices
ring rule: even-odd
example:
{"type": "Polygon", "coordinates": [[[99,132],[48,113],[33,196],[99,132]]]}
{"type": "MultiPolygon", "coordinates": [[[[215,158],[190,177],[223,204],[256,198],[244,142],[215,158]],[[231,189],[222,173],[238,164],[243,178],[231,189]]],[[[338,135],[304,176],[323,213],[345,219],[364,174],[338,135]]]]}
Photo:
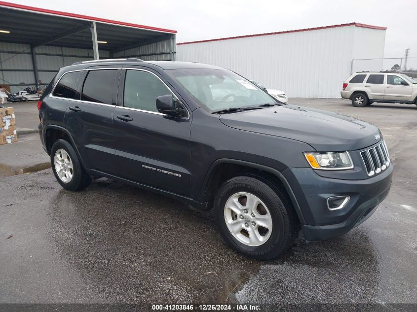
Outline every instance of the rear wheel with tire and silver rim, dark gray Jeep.
{"type": "Polygon", "coordinates": [[[74,147],[59,139],[51,148],[51,167],[61,186],[69,191],[78,191],[91,183],[91,177],[82,168],[74,147]]]}

